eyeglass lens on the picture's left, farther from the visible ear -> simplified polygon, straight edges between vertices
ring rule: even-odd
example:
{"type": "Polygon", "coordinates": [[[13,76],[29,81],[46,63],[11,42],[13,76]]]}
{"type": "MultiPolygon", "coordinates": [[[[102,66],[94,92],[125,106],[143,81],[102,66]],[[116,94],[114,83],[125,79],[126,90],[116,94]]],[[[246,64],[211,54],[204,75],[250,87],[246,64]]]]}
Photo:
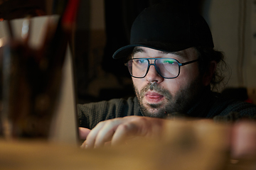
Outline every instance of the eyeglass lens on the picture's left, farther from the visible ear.
{"type": "Polygon", "coordinates": [[[149,61],[145,59],[132,59],[129,60],[128,69],[133,77],[144,77],[149,61]]]}

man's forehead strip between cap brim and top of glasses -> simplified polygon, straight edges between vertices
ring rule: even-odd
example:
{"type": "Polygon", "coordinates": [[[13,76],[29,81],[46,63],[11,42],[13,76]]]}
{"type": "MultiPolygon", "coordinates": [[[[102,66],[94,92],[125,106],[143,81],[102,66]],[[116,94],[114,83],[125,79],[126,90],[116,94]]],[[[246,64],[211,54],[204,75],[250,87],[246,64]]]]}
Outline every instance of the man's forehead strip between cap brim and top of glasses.
{"type": "Polygon", "coordinates": [[[165,52],[161,50],[154,50],[149,47],[134,47],[132,51],[132,57],[141,56],[141,57],[178,57],[181,59],[194,58],[197,56],[196,49],[194,47],[190,47],[186,50],[181,50],[177,52],[165,52]]]}

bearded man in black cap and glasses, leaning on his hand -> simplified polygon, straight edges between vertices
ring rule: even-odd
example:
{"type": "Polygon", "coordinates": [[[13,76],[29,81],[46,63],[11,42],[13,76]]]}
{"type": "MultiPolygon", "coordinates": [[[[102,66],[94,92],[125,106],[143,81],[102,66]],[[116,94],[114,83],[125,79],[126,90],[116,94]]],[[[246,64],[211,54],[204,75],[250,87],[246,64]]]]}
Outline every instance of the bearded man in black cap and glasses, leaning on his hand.
{"type": "Polygon", "coordinates": [[[210,91],[222,79],[216,68],[223,55],[213,47],[206,21],[186,6],[156,4],[142,11],[133,23],[131,44],[113,55],[127,58],[137,97],[78,105],[80,137],[86,138],[82,146],[157,137],[169,121],[164,118],[174,116],[252,118],[256,106],[210,91]]]}

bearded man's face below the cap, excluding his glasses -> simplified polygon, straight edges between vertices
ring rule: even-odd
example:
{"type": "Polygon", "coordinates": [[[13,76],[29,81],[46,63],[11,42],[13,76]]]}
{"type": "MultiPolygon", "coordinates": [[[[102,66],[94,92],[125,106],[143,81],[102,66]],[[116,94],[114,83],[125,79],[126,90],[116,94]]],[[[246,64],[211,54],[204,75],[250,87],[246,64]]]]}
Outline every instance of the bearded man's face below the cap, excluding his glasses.
{"type": "MultiPolygon", "coordinates": [[[[183,63],[196,60],[198,56],[193,47],[179,52],[161,52],[147,47],[135,47],[132,58],[174,58],[183,63]]],[[[146,77],[132,77],[132,80],[142,113],[156,118],[164,118],[168,113],[186,112],[203,88],[198,62],[182,66],[179,76],[175,79],[164,79],[151,65],[146,77]]]]}

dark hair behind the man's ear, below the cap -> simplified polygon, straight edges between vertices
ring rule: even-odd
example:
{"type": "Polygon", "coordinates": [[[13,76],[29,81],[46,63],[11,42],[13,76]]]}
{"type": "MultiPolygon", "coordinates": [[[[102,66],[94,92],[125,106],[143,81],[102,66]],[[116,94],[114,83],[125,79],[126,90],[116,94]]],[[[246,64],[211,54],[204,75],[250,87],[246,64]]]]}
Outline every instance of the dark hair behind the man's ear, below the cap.
{"type": "Polygon", "coordinates": [[[217,68],[213,74],[213,78],[210,81],[211,89],[217,89],[217,85],[223,81],[224,77],[224,69],[227,67],[224,61],[223,52],[215,50],[213,48],[206,47],[195,47],[198,52],[199,58],[199,72],[204,74],[207,72],[208,67],[211,61],[217,62],[217,68]]]}

